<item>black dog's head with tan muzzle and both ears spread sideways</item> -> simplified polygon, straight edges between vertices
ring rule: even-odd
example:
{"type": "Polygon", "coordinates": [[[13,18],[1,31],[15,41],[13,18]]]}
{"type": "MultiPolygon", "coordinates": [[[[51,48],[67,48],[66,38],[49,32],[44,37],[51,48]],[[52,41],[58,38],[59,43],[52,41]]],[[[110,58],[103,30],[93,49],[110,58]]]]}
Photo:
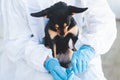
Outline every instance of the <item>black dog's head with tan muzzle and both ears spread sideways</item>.
{"type": "Polygon", "coordinates": [[[87,10],[87,8],[68,6],[64,2],[58,2],[45,10],[32,13],[31,15],[34,17],[49,18],[52,23],[50,28],[56,31],[60,36],[63,36],[68,31],[68,27],[71,24],[72,15],[74,13],[84,12],[85,10],[87,10]]]}

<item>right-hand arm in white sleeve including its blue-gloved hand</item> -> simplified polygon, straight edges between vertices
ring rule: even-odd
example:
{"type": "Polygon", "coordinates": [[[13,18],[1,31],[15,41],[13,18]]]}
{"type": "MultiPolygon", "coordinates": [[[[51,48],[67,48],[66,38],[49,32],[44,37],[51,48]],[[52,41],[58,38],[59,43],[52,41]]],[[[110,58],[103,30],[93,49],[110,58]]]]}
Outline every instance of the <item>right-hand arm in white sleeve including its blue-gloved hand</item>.
{"type": "Polygon", "coordinates": [[[77,41],[78,50],[72,56],[75,73],[88,70],[90,61],[106,53],[116,38],[115,16],[106,0],[87,0],[86,25],[77,41]]]}

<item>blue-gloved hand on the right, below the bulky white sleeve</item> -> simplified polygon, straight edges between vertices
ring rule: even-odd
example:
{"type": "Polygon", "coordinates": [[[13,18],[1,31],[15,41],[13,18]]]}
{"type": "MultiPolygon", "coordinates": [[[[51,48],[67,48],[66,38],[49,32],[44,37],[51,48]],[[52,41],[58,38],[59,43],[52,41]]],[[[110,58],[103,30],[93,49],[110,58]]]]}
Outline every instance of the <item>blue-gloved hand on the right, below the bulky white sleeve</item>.
{"type": "Polygon", "coordinates": [[[88,45],[81,46],[79,50],[74,52],[72,56],[72,68],[74,73],[85,72],[94,54],[95,50],[88,45]]]}

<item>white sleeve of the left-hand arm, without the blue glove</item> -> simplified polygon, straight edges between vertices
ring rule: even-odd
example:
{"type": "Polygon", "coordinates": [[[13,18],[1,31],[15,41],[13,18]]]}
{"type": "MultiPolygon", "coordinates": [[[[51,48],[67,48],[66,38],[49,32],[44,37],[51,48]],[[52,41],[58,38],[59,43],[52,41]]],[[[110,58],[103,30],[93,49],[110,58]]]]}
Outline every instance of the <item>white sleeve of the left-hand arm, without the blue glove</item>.
{"type": "Polygon", "coordinates": [[[46,71],[44,61],[47,56],[52,56],[52,51],[40,44],[36,35],[31,37],[33,32],[29,26],[26,4],[23,0],[2,0],[1,13],[6,57],[13,62],[24,60],[28,67],[46,71]]]}

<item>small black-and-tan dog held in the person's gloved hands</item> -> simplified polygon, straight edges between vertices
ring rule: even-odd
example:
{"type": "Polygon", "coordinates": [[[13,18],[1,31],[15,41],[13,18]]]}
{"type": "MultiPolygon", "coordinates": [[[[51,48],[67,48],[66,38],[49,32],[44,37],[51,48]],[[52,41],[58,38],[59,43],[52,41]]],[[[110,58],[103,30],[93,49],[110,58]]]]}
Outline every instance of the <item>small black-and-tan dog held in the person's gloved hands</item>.
{"type": "Polygon", "coordinates": [[[79,29],[72,15],[85,10],[87,8],[67,6],[64,2],[58,2],[45,10],[31,14],[34,17],[45,16],[49,18],[45,27],[45,46],[52,49],[53,56],[58,58],[63,67],[71,66],[71,50],[76,50],[74,45],[79,34],[79,29]],[[72,49],[69,44],[72,45],[72,49]]]}

